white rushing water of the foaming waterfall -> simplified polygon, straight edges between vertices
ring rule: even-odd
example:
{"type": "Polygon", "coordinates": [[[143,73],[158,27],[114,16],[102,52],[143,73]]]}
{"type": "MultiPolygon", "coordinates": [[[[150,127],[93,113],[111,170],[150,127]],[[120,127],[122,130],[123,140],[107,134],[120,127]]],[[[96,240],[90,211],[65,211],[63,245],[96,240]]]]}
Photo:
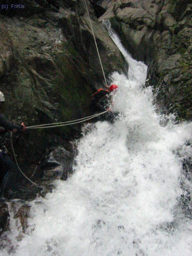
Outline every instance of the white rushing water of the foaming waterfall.
{"type": "Polygon", "coordinates": [[[143,89],[147,67],[111,36],[129,63],[128,77],[112,74],[120,118],[84,127],[74,174],[32,202],[22,240],[14,227],[8,236],[10,255],[192,255],[192,221],[178,203],[192,124],[156,114],[152,89],[143,89]]]}

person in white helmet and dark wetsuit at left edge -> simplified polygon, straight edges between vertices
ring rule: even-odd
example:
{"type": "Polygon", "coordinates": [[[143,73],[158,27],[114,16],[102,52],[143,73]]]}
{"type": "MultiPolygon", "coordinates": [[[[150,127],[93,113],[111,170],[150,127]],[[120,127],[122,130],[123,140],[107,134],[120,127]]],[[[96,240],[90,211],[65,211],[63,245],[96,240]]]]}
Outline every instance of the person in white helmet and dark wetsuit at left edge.
{"type": "MultiPolygon", "coordinates": [[[[5,98],[2,92],[0,92],[0,134],[11,131],[17,132],[18,130],[25,130],[25,125],[11,124],[2,115],[4,108],[5,98]]],[[[14,164],[13,160],[8,155],[6,148],[3,146],[0,148],[0,195],[6,194],[8,190],[16,189],[16,181],[19,176],[19,170],[14,164]]]]}

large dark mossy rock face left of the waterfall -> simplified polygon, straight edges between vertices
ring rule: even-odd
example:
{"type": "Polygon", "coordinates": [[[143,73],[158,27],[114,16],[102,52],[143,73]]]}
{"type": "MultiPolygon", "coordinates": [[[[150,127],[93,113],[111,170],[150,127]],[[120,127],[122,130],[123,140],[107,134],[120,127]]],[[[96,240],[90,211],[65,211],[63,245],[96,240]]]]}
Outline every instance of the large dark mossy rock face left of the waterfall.
{"type": "MultiPolygon", "coordinates": [[[[15,1],[7,4],[7,10],[0,10],[5,115],[26,126],[88,116],[90,98],[104,85],[104,78],[84,1],[22,0],[21,9],[11,8],[15,1]]],[[[114,70],[126,72],[122,54],[87,4],[106,77],[114,70]]],[[[14,136],[21,168],[31,175],[46,148],[64,146],[65,140],[80,134],[80,127],[28,130],[14,136]]],[[[10,149],[9,139],[4,144],[10,149]]]]}

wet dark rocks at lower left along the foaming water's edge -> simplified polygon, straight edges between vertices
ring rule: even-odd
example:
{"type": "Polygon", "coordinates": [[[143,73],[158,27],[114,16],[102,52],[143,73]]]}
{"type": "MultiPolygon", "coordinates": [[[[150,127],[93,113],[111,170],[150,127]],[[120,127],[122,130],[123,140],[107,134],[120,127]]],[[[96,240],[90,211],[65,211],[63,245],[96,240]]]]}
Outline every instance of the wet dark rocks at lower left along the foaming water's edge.
{"type": "MultiPolygon", "coordinates": [[[[28,228],[27,219],[30,213],[30,206],[28,201],[34,200],[38,196],[44,197],[46,193],[52,192],[54,189],[54,180],[66,180],[68,174],[72,174],[73,164],[73,147],[66,143],[66,148],[59,146],[52,148],[46,159],[40,163],[40,166],[35,169],[33,176],[29,177],[38,184],[35,186],[25,178],[18,184],[18,191],[10,191],[6,198],[1,198],[0,201],[0,234],[8,230],[10,213],[6,200],[10,204],[10,212],[14,219],[16,219],[16,226],[18,229],[22,227],[22,233],[25,233],[28,228]],[[14,200],[14,198],[20,198],[14,200]]],[[[22,233],[18,236],[18,240],[22,239],[22,233]]],[[[6,239],[6,237],[5,237],[6,239]]],[[[3,241],[3,239],[2,239],[3,241]]]]}

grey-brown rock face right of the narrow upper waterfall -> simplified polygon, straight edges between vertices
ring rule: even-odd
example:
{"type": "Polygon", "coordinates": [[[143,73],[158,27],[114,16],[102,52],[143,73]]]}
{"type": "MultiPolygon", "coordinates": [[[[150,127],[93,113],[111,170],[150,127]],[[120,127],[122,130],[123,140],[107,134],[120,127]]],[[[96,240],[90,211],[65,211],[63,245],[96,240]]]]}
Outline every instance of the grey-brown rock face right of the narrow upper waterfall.
{"type": "Polygon", "coordinates": [[[192,3],[190,0],[106,0],[100,20],[110,18],[123,44],[148,65],[148,84],[161,109],[192,120],[192,3]]]}

